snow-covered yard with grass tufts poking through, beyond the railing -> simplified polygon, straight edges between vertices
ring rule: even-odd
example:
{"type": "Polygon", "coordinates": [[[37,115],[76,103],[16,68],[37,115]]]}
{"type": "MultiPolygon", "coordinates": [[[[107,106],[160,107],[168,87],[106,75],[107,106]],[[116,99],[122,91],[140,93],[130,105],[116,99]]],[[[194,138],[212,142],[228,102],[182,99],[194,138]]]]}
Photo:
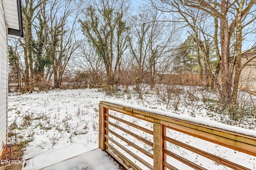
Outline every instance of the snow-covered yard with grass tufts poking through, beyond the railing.
{"type": "MultiPolygon", "coordinates": [[[[10,142],[30,141],[25,150],[24,159],[32,158],[51,150],[61,149],[73,143],[82,143],[86,146],[86,151],[96,149],[98,148],[98,104],[101,100],[124,102],[126,104],[158,109],[178,115],[196,117],[197,121],[230,122],[228,115],[217,114],[214,112],[214,109],[209,110],[209,107],[214,107],[214,104],[202,102],[200,96],[203,96],[203,94],[194,93],[192,95],[191,93],[182,93],[180,96],[173,95],[170,97],[172,100],[169,102],[168,100],[162,102],[161,97],[159,97],[161,96],[160,93],[161,91],[155,92],[148,90],[144,92],[144,100],[138,99],[137,94],[132,92],[132,89],[130,94],[118,90],[116,95],[112,96],[106,95],[98,89],[89,88],[52,90],[48,93],[39,92],[18,96],[10,94],[8,99],[10,142]],[[156,95],[156,93],[158,93],[158,95],[156,95]],[[198,94],[198,96],[196,94],[198,94]]],[[[164,92],[162,93],[162,98],[166,97],[164,92]]],[[[206,93],[204,95],[206,95],[206,93]]],[[[152,125],[147,122],[136,120],[133,117],[127,117],[122,114],[116,114],[116,116],[152,129],[152,125]]],[[[256,130],[256,122],[254,119],[248,119],[246,123],[239,122],[234,124],[246,127],[247,129],[256,130]]],[[[132,130],[133,128],[130,129],[132,130]]],[[[124,135],[124,133],[120,134],[124,135]]],[[[148,140],[152,140],[152,137],[145,136],[143,133],[140,135],[148,140]]],[[[254,156],[242,154],[232,149],[227,149],[171,130],[168,131],[168,135],[172,135],[172,138],[179,139],[194,147],[199,147],[202,150],[211,152],[216,156],[227,158],[228,160],[232,160],[253,170],[256,169],[256,157],[254,156]]],[[[134,143],[152,152],[152,148],[139,143],[136,139],[134,139],[134,143]]],[[[124,143],[123,145],[127,144],[124,143]]],[[[188,158],[192,162],[198,162],[198,164],[201,164],[206,169],[228,169],[216,162],[202,158],[171,143],[167,143],[167,145],[176,154],[188,158]]],[[[148,158],[144,156],[144,159],[147,160],[148,158]]],[[[173,161],[172,164],[174,166],[177,165],[177,167],[181,167],[180,169],[188,169],[187,166],[183,164],[179,165],[175,160],[169,159],[169,161],[173,161]]],[[[150,161],[151,160],[148,159],[148,162],[150,161]]]]}

